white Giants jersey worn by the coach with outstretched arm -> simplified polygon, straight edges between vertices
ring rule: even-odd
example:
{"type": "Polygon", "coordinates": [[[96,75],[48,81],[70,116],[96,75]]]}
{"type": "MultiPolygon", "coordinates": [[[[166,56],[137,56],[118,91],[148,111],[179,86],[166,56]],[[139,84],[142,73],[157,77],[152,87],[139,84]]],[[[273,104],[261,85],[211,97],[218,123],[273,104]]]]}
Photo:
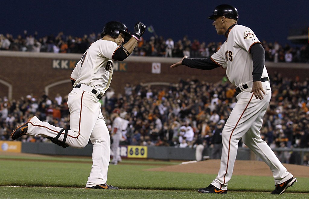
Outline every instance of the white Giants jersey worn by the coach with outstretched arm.
{"type": "MultiPolygon", "coordinates": [[[[235,25],[222,47],[211,56],[214,62],[226,68],[227,78],[235,86],[252,81],[253,61],[249,52],[255,43],[260,43],[260,40],[250,28],[235,25]]],[[[261,78],[267,76],[264,66],[261,78]]]]}

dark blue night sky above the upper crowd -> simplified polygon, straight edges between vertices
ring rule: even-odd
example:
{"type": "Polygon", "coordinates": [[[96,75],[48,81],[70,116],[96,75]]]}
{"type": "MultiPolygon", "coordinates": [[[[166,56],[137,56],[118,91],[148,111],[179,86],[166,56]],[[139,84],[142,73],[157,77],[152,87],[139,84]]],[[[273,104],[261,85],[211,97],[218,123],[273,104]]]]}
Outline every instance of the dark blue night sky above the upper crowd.
{"type": "MultiPolygon", "coordinates": [[[[159,36],[174,41],[188,38],[208,44],[224,41],[217,35],[212,21],[206,19],[215,6],[231,4],[238,9],[239,24],[250,27],[262,41],[287,44],[289,30],[309,26],[309,1],[119,1],[119,0],[3,0],[0,2],[0,33],[14,37],[38,31],[39,37],[59,31],[65,35],[82,36],[99,33],[108,21],[121,21],[129,31],[137,21],[152,25],[159,36]],[[295,2],[295,3],[291,3],[295,2]]],[[[145,39],[151,33],[146,32],[145,39]]]]}

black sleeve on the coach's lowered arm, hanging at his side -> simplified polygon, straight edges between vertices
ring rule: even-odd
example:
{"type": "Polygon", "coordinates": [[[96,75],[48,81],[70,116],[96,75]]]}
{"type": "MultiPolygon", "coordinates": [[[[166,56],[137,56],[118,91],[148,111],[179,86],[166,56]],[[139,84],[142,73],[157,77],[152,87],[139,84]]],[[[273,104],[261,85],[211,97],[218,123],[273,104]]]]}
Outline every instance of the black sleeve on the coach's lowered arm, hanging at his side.
{"type": "Polygon", "coordinates": [[[256,43],[251,47],[250,53],[253,61],[253,81],[261,81],[265,64],[265,50],[261,43],[256,43]]]}

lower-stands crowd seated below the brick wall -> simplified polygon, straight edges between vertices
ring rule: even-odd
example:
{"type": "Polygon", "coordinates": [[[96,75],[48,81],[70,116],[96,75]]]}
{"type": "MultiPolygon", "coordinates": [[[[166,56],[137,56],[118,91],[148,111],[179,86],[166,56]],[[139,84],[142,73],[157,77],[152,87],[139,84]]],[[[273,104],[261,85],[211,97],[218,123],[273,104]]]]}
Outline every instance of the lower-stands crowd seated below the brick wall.
{"type": "MultiPolygon", "coordinates": [[[[309,148],[309,78],[291,80],[276,73],[270,80],[273,96],[263,120],[262,138],[272,148],[309,148]]],[[[128,145],[193,147],[201,138],[205,147],[210,147],[217,124],[226,122],[236,103],[235,87],[226,78],[217,83],[181,80],[170,87],[127,83],[124,90],[108,90],[100,102],[110,132],[113,110],[119,109],[121,117],[129,121],[121,142],[128,145]]],[[[69,114],[67,96],[59,94],[53,99],[45,94],[13,100],[0,97],[0,140],[11,140],[16,126],[32,115],[70,129],[69,114]]],[[[50,142],[40,136],[23,136],[18,140],[50,142]]],[[[241,141],[239,146],[245,147],[241,141]]],[[[299,154],[278,154],[283,163],[299,161],[295,155],[299,154]]],[[[309,154],[304,160],[308,162],[309,154]]]]}

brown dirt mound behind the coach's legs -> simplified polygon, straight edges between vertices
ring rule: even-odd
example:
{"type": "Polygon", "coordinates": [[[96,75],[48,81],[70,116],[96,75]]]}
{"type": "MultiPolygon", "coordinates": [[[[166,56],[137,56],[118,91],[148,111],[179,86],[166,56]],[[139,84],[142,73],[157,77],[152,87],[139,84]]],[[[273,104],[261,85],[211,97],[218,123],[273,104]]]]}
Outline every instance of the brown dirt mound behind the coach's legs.
{"type": "MultiPolygon", "coordinates": [[[[295,177],[309,177],[309,167],[296,164],[283,164],[295,177]]],[[[185,173],[217,174],[220,160],[204,160],[189,164],[178,164],[159,168],[150,168],[147,171],[167,171],[185,173]]],[[[262,161],[236,160],[233,175],[272,176],[267,164],[262,161]]]]}

